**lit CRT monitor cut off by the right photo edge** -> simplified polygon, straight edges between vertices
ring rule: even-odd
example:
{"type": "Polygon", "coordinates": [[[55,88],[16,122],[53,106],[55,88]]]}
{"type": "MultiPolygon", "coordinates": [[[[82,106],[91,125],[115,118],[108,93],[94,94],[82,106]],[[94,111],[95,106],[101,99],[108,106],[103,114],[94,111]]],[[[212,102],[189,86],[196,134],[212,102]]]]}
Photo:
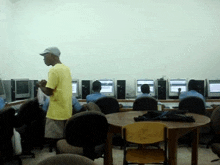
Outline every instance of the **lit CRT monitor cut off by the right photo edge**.
{"type": "Polygon", "coordinates": [[[220,80],[207,80],[208,97],[220,97],[220,80]]]}

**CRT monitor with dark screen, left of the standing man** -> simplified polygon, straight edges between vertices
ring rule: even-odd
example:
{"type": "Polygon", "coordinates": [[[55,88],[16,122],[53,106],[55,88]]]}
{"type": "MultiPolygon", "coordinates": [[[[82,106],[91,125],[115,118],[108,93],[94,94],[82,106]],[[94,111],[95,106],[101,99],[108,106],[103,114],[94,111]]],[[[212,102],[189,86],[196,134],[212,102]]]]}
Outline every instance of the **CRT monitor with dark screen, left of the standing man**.
{"type": "Polygon", "coordinates": [[[14,79],[15,81],[15,98],[30,97],[30,82],[29,79],[14,79]]]}

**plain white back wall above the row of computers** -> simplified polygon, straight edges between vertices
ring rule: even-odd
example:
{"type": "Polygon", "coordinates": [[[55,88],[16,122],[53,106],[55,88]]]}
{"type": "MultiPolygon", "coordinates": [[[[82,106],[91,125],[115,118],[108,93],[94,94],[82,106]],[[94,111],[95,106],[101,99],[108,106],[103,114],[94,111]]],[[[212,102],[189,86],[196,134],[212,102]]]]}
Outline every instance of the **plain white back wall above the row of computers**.
{"type": "Polygon", "coordinates": [[[137,78],[219,78],[219,9],[217,0],[20,0],[3,79],[46,79],[48,46],[73,78],[125,79],[130,92],[137,78]]]}

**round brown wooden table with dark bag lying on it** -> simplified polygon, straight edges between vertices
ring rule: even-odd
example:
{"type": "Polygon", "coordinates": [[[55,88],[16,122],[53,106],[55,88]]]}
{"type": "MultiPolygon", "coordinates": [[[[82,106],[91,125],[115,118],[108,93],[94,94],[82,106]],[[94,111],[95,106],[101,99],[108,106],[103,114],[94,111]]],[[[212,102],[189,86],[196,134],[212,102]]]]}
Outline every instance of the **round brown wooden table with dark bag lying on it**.
{"type": "MultiPolygon", "coordinates": [[[[112,165],[112,135],[114,133],[121,133],[122,127],[127,124],[134,123],[134,117],[138,117],[147,111],[130,111],[130,112],[119,112],[106,115],[109,122],[110,128],[108,132],[108,138],[106,141],[106,152],[104,157],[105,165],[112,165]]],[[[210,118],[187,113],[186,115],[193,116],[195,122],[168,122],[159,121],[167,125],[168,127],[168,157],[169,165],[177,165],[177,147],[178,139],[186,133],[193,132],[192,142],[192,165],[198,165],[198,142],[199,142],[199,128],[210,123],[210,118]]]]}

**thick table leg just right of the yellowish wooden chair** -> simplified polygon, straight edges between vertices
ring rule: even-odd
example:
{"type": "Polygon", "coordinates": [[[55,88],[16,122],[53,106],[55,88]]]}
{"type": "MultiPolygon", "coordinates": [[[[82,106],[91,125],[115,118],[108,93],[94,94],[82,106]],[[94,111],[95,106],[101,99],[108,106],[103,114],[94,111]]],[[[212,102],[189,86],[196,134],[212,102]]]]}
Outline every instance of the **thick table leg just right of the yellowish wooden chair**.
{"type": "Polygon", "coordinates": [[[169,165],[177,165],[178,137],[176,130],[168,130],[168,161],[169,165]]]}

